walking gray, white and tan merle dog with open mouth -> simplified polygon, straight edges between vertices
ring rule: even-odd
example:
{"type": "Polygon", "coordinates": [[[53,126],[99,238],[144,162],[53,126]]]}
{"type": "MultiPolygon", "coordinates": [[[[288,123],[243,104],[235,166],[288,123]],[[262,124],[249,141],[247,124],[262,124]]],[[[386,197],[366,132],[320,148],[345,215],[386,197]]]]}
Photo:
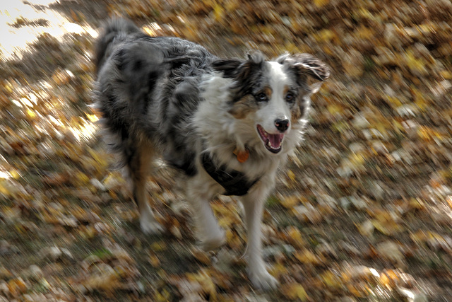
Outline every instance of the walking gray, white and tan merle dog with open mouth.
{"type": "Polygon", "coordinates": [[[95,56],[95,103],[131,180],[142,230],[162,231],[145,192],[150,163],[162,158],[184,175],[205,250],[225,243],[209,199],[240,197],[249,279],[274,289],[278,281],[262,256],[263,207],[278,168],[302,141],[310,95],[330,75],[328,66],[311,54],[222,59],[194,42],[146,35],[124,19],[105,25],[95,56]],[[309,85],[309,77],[319,82],[309,85]]]}

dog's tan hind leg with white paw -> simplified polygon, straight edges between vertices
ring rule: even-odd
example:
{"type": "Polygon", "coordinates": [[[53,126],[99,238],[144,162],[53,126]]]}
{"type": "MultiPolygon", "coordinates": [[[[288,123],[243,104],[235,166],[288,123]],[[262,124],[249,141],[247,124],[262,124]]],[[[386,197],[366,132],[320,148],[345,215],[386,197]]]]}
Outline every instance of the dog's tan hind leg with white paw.
{"type": "Polygon", "coordinates": [[[163,231],[160,223],[155,220],[153,210],[146,197],[146,178],[149,175],[150,162],[153,159],[153,149],[145,144],[129,146],[126,150],[126,168],[131,180],[133,199],[140,213],[140,226],[144,233],[153,234],[163,231]]]}

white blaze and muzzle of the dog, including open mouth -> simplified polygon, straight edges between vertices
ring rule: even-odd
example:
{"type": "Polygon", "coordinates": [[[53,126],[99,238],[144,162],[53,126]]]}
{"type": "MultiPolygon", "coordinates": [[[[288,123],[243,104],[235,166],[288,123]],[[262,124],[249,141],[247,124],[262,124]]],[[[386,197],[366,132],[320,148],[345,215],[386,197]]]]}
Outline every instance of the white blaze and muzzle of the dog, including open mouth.
{"type": "Polygon", "coordinates": [[[272,153],[281,150],[285,134],[290,132],[291,125],[282,133],[275,126],[275,120],[290,121],[290,107],[285,100],[287,87],[290,87],[290,78],[285,74],[283,65],[278,62],[266,62],[265,76],[268,78],[268,103],[256,112],[256,129],[264,146],[272,153]]]}

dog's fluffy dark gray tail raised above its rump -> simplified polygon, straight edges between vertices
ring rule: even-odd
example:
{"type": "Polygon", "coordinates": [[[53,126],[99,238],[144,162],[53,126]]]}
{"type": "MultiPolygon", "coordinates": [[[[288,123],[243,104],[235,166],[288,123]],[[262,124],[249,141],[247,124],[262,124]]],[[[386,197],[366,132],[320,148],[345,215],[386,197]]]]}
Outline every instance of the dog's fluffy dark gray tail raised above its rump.
{"type": "Polygon", "coordinates": [[[103,26],[95,45],[96,73],[109,57],[114,45],[126,40],[133,33],[142,33],[131,21],[121,18],[112,18],[103,26]]]}

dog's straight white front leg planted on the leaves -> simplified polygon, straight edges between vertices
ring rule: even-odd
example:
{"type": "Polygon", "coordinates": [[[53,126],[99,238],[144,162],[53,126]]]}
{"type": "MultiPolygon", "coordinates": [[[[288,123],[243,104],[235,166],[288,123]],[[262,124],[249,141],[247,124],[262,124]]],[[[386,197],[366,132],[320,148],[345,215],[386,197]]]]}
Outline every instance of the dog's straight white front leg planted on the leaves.
{"type": "Polygon", "coordinates": [[[261,221],[263,205],[269,191],[268,187],[257,185],[242,199],[248,234],[248,247],[245,254],[248,262],[248,277],[258,289],[275,289],[278,285],[278,280],[267,272],[266,263],[262,257],[261,221]]]}

